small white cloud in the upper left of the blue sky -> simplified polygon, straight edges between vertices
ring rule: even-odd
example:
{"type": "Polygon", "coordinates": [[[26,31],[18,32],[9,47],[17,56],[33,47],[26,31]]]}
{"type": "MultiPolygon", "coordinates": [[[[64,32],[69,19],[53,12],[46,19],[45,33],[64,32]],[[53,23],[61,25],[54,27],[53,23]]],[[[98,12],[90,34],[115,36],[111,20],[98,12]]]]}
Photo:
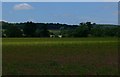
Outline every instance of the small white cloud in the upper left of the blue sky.
{"type": "Polygon", "coordinates": [[[14,10],[30,10],[30,9],[33,9],[33,7],[27,3],[22,3],[22,4],[16,4],[13,9],[14,10]]]}

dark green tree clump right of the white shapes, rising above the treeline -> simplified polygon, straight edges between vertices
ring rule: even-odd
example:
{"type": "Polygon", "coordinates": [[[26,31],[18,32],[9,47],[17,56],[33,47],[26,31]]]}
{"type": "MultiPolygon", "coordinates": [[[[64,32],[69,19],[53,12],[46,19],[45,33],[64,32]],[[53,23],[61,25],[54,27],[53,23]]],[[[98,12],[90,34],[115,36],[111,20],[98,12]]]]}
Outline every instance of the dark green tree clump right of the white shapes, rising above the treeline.
{"type": "Polygon", "coordinates": [[[92,27],[91,22],[80,23],[79,27],[62,29],[61,34],[65,37],[88,37],[92,27]]]}

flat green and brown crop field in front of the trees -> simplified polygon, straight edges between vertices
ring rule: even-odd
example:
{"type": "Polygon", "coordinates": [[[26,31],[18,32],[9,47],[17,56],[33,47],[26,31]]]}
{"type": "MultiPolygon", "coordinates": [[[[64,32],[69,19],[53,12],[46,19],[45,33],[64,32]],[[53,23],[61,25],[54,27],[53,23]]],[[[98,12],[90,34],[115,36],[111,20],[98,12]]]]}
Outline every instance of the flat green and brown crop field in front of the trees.
{"type": "Polygon", "coordinates": [[[118,75],[117,38],[3,38],[3,75],[118,75]]]}

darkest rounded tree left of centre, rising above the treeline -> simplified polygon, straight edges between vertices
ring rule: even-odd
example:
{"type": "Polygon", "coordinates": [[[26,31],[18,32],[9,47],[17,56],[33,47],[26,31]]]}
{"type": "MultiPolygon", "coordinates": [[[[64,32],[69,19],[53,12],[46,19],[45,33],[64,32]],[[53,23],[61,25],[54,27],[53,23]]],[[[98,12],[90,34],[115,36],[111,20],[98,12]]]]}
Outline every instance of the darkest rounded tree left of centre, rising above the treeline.
{"type": "Polygon", "coordinates": [[[35,23],[27,22],[24,25],[23,32],[26,35],[26,37],[34,37],[36,29],[37,29],[37,26],[35,23]]]}

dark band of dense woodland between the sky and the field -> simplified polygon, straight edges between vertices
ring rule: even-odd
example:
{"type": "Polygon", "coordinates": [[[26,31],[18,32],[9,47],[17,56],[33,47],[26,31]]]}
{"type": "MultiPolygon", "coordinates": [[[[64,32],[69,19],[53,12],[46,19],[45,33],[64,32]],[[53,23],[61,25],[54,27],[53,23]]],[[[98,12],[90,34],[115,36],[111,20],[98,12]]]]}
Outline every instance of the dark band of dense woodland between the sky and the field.
{"type": "Polygon", "coordinates": [[[91,22],[79,25],[67,25],[60,23],[2,23],[2,37],[50,37],[50,35],[62,37],[119,37],[120,26],[96,24],[91,22]]]}

